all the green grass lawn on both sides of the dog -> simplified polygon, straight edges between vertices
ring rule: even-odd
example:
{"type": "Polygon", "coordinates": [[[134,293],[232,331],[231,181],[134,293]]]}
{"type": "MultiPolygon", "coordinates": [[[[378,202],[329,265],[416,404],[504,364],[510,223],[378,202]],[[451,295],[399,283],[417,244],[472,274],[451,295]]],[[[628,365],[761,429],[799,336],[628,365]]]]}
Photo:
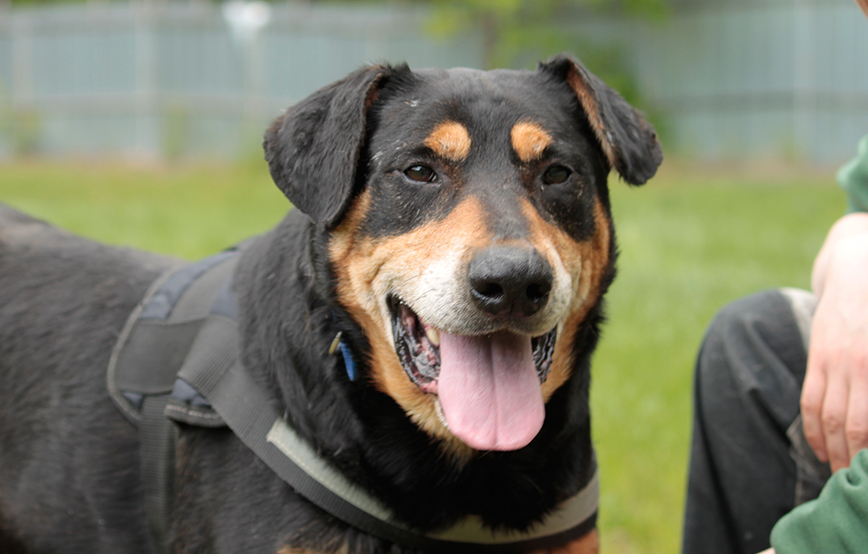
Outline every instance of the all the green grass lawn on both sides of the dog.
{"type": "MultiPolygon", "coordinates": [[[[645,187],[613,177],[611,188],[621,257],[592,391],[603,552],[674,553],[704,329],[739,296],[807,287],[843,195],[831,171],[666,166],[645,187]]],[[[271,227],[288,207],[262,164],[6,164],[0,201],[95,239],[188,259],[271,227]]]]}

